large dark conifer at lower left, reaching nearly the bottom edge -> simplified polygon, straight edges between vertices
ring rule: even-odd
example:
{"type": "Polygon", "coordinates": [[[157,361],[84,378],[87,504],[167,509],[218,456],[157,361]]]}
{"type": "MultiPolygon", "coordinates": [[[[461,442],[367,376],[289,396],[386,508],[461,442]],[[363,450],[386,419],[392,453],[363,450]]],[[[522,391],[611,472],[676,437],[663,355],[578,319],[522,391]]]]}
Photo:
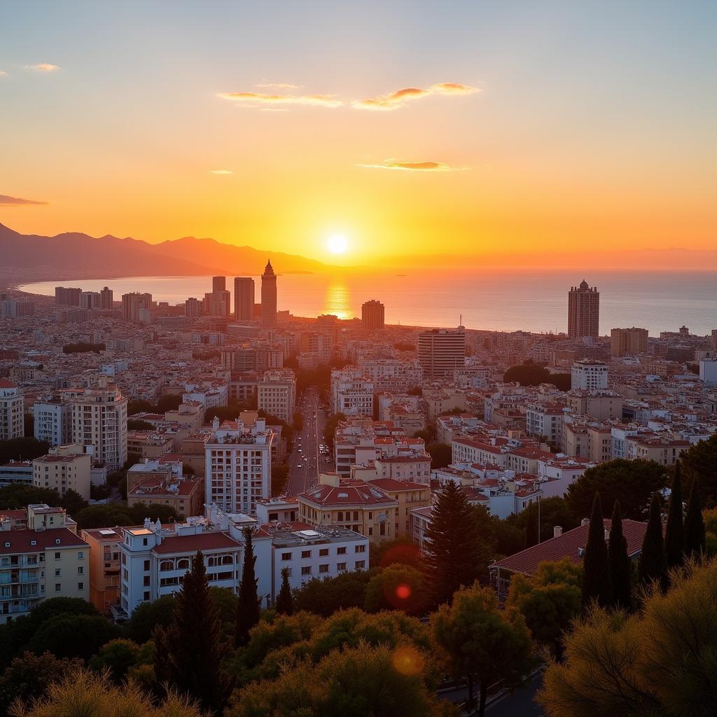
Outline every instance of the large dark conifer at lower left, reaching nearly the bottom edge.
{"type": "Polygon", "coordinates": [[[221,714],[232,691],[232,681],[222,670],[228,645],[222,637],[219,608],[206,582],[201,551],[176,594],[172,621],[167,627],[157,627],[153,639],[157,682],[188,694],[209,713],[221,714]]]}

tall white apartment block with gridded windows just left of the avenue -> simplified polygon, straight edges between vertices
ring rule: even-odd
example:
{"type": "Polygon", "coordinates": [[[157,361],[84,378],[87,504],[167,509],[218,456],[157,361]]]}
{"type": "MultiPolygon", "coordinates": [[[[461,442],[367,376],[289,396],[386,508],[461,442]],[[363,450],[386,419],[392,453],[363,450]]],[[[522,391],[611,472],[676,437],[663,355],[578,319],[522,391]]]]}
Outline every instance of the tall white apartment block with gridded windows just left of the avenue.
{"type": "Polygon", "coordinates": [[[252,425],[214,419],[205,444],[206,503],[227,513],[255,514],[271,495],[271,452],[278,436],[264,419],[252,425]]]}

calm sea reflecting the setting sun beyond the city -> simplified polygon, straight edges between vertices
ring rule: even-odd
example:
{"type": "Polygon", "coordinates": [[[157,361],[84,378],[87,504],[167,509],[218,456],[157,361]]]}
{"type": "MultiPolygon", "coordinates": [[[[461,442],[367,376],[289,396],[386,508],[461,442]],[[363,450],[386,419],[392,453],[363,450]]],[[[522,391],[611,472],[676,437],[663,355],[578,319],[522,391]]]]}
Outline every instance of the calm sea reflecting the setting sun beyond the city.
{"type": "MultiPolygon", "coordinates": [[[[650,336],[660,331],[707,335],[717,328],[717,272],[614,271],[531,272],[531,270],[435,270],[406,274],[341,271],[334,274],[286,274],[277,279],[277,303],[297,316],[361,316],[361,304],[378,299],[386,323],[455,327],[488,331],[559,333],[567,330],[567,295],[581,280],[600,293],[600,333],[638,326],[650,336]]],[[[260,300],[260,277],[254,277],[260,300]]],[[[211,277],[127,277],[44,281],[23,291],[54,295],[55,285],[98,291],[108,286],[115,300],[130,291],[149,292],[154,300],[180,303],[212,290],[211,277]]],[[[227,289],[234,277],[227,277],[227,289]]]]}

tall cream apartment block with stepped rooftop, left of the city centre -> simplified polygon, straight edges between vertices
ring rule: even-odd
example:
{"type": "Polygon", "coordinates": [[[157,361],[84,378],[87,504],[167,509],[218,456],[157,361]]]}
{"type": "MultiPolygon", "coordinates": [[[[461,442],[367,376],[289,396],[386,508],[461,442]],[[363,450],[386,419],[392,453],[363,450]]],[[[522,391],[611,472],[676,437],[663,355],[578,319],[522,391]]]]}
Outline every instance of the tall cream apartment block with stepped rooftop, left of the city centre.
{"type": "Polygon", "coordinates": [[[62,389],[72,410],[72,442],[92,446],[92,459],[118,470],[127,460],[127,399],[106,376],[95,385],[62,389]]]}

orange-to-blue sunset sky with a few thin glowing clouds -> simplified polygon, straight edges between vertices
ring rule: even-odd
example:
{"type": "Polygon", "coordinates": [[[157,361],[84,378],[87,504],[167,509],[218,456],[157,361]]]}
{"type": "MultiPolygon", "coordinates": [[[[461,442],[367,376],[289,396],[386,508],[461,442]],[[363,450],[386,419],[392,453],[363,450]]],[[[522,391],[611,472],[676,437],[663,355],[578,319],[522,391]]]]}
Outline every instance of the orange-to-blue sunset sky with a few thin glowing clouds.
{"type": "Polygon", "coordinates": [[[716,33],[708,0],[4,3],[0,222],[353,265],[714,250],[716,33]]]}

